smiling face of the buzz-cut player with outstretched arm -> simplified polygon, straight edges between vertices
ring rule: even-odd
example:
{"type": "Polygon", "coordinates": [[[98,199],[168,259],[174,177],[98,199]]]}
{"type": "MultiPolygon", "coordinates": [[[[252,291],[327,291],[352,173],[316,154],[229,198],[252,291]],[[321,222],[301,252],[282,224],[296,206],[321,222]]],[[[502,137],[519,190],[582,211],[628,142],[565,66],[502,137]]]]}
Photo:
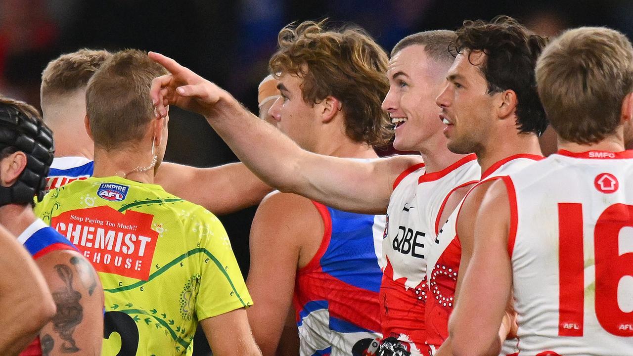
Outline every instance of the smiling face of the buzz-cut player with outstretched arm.
{"type": "Polygon", "coordinates": [[[442,134],[444,125],[437,120],[435,98],[444,83],[446,67],[430,59],[419,44],[401,49],[389,60],[389,92],[382,109],[396,124],[394,148],[424,151],[425,142],[442,134]]]}

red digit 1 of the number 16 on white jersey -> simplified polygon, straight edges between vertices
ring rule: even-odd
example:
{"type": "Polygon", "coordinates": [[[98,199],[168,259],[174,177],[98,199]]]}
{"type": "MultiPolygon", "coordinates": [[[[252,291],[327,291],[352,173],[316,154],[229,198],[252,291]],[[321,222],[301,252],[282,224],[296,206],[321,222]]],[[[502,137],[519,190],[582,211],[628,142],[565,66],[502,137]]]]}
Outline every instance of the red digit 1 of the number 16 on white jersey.
{"type": "Polygon", "coordinates": [[[582,336],[583,266],[582,205],[558,203],[559,336],[582,336]]]}

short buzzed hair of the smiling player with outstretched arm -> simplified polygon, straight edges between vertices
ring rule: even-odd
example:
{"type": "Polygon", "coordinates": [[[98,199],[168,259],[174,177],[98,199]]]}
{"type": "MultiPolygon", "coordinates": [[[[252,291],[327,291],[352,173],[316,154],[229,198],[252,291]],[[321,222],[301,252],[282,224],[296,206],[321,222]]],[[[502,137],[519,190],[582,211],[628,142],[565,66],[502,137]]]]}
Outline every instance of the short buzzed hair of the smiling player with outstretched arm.
{"type": "Polygon", "coordinates": [[[451,48],[451,44],[456,38],[457,35],[451,30],[418,32],[417,34],[408,35],[396,43],[394,49],[391,50],[391,56],[409,46],[420,45],[424,46],[424,52],[432,60],[451,65],[455,57],[451,54],[449,48],[451,48]]]}

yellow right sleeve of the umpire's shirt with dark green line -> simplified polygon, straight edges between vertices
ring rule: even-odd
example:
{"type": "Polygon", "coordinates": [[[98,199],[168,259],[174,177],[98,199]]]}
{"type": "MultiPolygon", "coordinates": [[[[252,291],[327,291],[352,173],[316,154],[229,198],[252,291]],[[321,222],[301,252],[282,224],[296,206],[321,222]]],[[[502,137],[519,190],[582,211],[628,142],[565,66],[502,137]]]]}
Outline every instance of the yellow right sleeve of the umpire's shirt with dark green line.
{"type": "Polygon", "coordinates": [[[222,223],[208,212],[202,217],[209,234],[200,246],[203,253],[196,301],[198,320],[253,305],[222,223]]]}

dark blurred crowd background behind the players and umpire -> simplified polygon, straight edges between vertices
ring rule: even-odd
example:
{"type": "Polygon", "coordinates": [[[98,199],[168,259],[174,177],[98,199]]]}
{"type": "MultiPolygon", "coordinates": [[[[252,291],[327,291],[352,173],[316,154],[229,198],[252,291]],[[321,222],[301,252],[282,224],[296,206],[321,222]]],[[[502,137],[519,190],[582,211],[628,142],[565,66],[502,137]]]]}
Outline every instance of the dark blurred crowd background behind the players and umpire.
{"type": "MultiPolygon", "coordinates": [[[[599,25],[633,38],[632,13],[630,0],[0,0],[0,93],[39,107],[41,72],[61,53],[138,48],[175,58],[256,113],[277,32],[294,21],[356,23],[389,52],[405,35],[500,14],[542,35],[599,25]]],[[[235,162],[204,118],[174,109],[170,116],[166,160],[197,167],[235,162]]],[[[220,217],[244,276],[254,211],[220,217]]],[[[196,354],[204,353],[199,346],[196,354]]]]}

